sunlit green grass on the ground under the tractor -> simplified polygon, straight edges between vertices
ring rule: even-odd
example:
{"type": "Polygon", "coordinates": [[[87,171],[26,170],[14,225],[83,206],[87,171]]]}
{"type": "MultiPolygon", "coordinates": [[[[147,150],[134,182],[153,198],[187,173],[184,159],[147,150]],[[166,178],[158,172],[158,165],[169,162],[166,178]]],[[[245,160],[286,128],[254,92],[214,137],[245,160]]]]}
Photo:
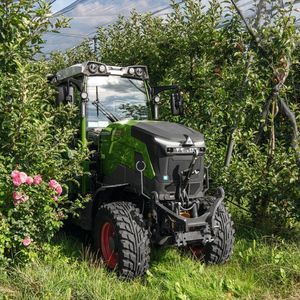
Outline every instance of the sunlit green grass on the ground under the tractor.
{"type": "Polygon", "coordinates": [[[121,281],[61,234],[33,263],[0,274],[0,299],[300,299],[300,248],[239,230],[231,261],[204,266],[176,249],[153,249],[144,278],[121,281]]]}

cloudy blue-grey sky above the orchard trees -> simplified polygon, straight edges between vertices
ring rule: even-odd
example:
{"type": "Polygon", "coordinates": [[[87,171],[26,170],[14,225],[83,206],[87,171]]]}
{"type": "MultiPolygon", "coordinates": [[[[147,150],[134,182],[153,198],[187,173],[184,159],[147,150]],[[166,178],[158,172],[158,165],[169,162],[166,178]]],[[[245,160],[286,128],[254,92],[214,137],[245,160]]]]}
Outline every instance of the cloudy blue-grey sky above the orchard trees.
{"type": "MultiPolygon", "coordinates": [[[[163,15],[170,11],[170,0],[48,0],[53,2],[53,17],[64,14],[72,18],[70,28],[61,29],[60,33],[48,33],[44,36],[46,43],[43,52],[64,51],[78,45],[84,38],[92,38],[98,26],[112,24],[118,15],[128,16],[130,11],[156,12],[163,15]]],[[[202,0],[203,4],[209,0],[202,0]]],[[[176,2],[182,2],[176,0],[176,2]]],[[[250,12],[254,0],[239,0],[239,7],[244,12],[250,12]]],[[[300,17],[300,0],[296,5],[300,17]]]]}

